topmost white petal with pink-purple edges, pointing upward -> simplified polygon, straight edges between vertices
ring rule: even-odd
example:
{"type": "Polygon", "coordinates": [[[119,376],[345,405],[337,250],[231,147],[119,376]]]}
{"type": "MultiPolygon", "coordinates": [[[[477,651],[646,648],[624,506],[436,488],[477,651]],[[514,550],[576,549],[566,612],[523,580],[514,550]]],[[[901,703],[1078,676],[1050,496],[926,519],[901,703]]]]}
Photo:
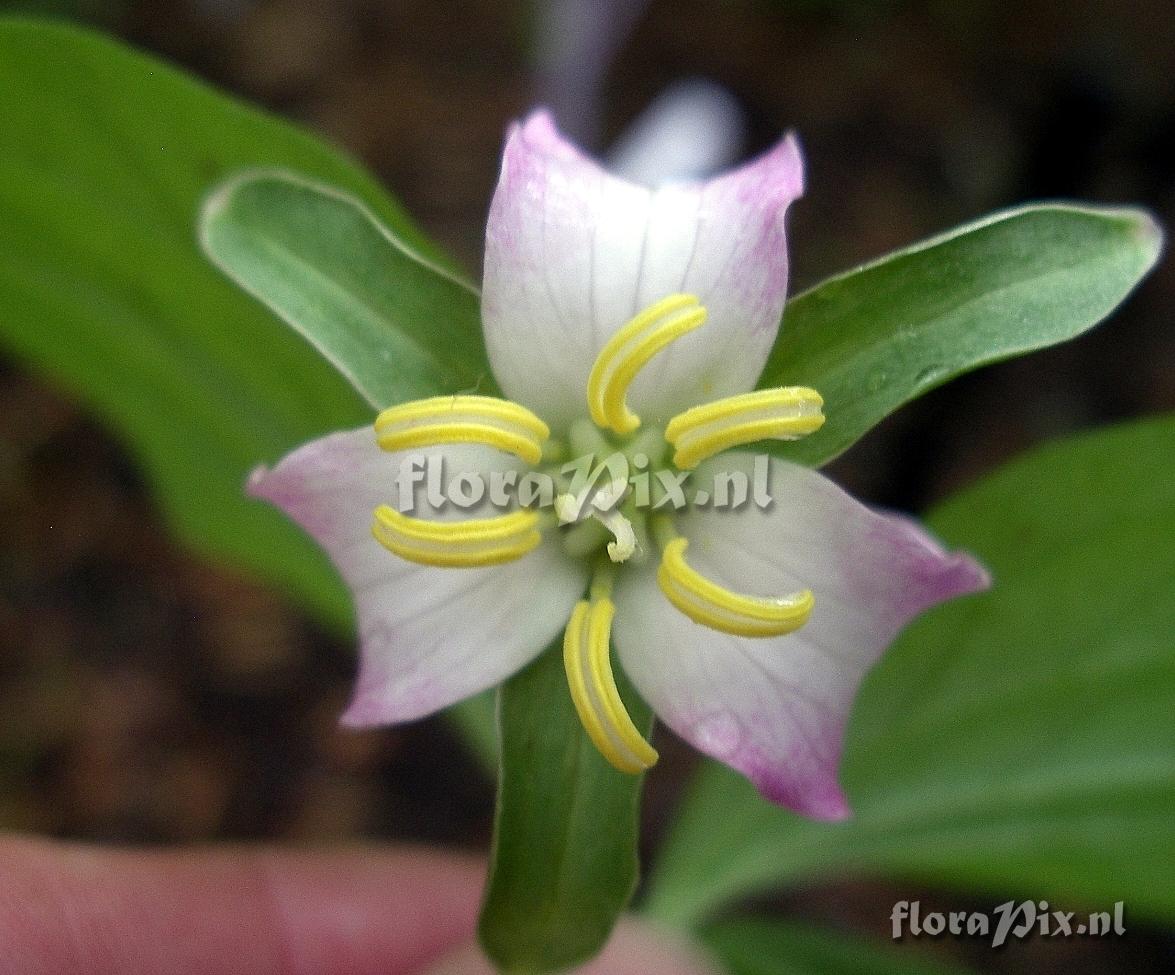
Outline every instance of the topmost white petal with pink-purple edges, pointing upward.
{"type": "Polygon", "coordinates": [[[774,342],[787,290],[784,217],[803,193],[787,136],[723,176],[649,190],[610,175],[545,113],[515,126],[485,233],[482,316],[494,375],[552,429],[586,412],[588,374],[609,336],[674,292],[710,316],[633,384],[664,422],[745,392],[774,342]]]}

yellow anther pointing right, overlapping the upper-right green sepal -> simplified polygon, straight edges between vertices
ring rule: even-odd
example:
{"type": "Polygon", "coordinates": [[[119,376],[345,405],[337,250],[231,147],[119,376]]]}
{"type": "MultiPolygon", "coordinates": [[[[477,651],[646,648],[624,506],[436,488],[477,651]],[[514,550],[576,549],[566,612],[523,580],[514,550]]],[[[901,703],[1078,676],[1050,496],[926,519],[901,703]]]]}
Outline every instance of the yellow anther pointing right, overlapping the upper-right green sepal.
{"type": "Polygon", "coordinates": [[[824,425],[814,389],[781,386],[730,396],[678,413],[665,428],[673,466],[691,470],[716,453],[754,441],[795,441],[824,425]]]}

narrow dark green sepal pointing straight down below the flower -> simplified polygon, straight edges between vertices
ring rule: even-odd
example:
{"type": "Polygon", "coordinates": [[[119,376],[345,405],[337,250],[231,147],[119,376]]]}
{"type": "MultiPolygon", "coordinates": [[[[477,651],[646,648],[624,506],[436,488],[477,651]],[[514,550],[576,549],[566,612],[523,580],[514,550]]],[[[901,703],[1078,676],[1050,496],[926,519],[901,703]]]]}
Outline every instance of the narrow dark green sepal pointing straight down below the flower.
{"type": "MultiPolygon", "coordinates": [[[[617,668],[633,722],[652,713],[617,668]]],[[[560,970],[607,941],[637,883],[643,775],[596,751],[568,693],[560,646],[498,691],[502,766],[478,934],[503,971],[560,970]]]]}

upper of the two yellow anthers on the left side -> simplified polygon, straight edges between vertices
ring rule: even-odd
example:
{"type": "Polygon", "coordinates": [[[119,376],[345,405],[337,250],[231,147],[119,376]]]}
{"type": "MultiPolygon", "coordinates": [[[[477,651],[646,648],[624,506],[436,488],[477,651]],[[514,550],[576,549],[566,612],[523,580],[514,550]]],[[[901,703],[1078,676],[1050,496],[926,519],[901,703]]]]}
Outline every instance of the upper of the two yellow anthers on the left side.
{"type": "Polygon", "coordinates": [[[384,450],[437,444],[496,446],[537,464],[551,435],[525,406],[492,396],[434,396],[390,406],[376,417],[376,439],[384,450]]]}

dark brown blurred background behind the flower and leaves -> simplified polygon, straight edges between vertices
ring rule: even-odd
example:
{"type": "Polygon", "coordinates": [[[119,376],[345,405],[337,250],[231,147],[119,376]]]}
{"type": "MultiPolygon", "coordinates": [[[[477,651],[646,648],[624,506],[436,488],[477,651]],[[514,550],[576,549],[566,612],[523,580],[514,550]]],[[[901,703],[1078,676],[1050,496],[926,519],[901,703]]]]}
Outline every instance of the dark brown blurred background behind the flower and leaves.
{"type": "MultiPolygon", "coordinates": [[[[1026,200],[1140,203],[1175,223],[1175,18],[1163,0],[29,0],[0,11],[99,26],[324,134],[472,276],[505,127],[537,101],[630,172],[643,164],[640,132],[684,139],[679,154],[705,167],[797,129],[808,190],[791,217],[793,290],[1026,200]],[[697,83],[673,87],[683,81],[697,83]],[[642,116],[667,89],[684,101],[642,116]]],[[[1163,262],[1104,327],[925,397],[831,473],[868,502],[918,512],[1033,444],[1175,409],[1173,307],[1163,262]]],[[[0,827],[486,847],[492,782],[449,727],[340,731],[354,648],[177,546],[119,443],[2,357],[0,539],[0,827]]],[[[650,855],[693,761],[660,735],[650,855]]],[[[887,937],[889,905],[912,895],[924,909],[989,907],[839,880],[760,907],[887,937]]],[[[1112,943],[919,947],[1007,973],[1166,971],[1175,950],[1141,927],[1112,943]]]]}

